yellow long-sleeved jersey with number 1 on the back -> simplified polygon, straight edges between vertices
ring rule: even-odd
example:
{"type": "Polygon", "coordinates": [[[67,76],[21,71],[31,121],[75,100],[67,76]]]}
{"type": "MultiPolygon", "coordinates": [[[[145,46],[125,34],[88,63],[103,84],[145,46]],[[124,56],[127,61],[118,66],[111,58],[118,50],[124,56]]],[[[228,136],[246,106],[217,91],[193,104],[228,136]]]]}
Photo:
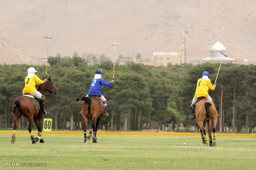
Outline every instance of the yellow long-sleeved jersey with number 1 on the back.
{"type": "Polygon", "coordinates": [[[208,90],[209,88],[211,90],[214,90],[215,87],[211,84],[211,80],[210,79],[204,79],[204,78],[199,78],[197,80],[197,89],[196,92],[194,94],[194,97],[200,97],[200,96],[205,96],[208,97],[208,90]]]}

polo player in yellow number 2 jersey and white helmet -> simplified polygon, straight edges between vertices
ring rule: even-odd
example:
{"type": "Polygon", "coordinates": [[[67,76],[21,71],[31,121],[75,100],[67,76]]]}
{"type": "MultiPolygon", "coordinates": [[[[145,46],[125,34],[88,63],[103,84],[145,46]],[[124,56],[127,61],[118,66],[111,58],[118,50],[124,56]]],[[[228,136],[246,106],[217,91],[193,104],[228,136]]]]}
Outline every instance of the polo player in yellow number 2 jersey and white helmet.
{"type": "Polygon", "coordinates": [[[45,96],[36,90],[36,83],[43,84],[47,82],[47,78],[41,80],[38,76],[36,76],[36,72],[37,71],[33,67],[28,68],[28,75],[25,77],[25,87],[22,90],[22,93],[23,95],[25,93],[29,93],[37,99],[40,99],[41,114],[46,115],[47,113],[45,111],[45,96]]]}

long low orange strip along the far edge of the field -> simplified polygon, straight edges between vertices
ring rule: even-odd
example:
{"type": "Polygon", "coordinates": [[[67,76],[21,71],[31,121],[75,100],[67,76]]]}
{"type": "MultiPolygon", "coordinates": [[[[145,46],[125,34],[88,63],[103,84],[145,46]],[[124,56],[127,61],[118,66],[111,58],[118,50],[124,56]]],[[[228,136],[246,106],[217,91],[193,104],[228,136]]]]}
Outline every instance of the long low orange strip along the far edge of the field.
{"type": "MultiPolygon", "coordinates": [[[[12,134],[13,131],[0,131],[0,134],[12,134]]],[[[16,131],[17,134],[27,134],[28,131],[16,131]]],[[[37,134],[38,131],[32,131],[37,134]]],[[[83,135],[83,131],[43,131],[43,134],[52,135],[83,135]]],[[[176,133],[176,132],[105,132],[98,131],[97,135],[149,135],[149,136],[201,136],[201,133],[176,133]]],[[[216,136],[244,136],[256,137],[256,133],[216,133],[216,136]]]]}

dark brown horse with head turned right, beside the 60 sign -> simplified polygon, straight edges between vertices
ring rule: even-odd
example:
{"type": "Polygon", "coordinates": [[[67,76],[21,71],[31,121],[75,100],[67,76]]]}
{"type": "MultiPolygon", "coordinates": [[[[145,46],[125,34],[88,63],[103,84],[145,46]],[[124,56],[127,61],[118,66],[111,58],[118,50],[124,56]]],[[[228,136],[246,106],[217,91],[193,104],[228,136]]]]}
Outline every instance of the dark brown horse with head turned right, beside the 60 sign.
{"type": "MultiPolygon", "coordinates": [[[[43,78],[45,79],[45,78],[43,78]]],[[[51,76],[48,78],[47,82],[43,83],[42,85],[39,85],[38,92],[43,94],[45,96],[46,92],[49,92],[50,95],[58,94],[59,89],[55,87],[55,85],[52,83],[51,76]]],[[[28,118],[28,131],[30,133],[30,137],[32,140],[32,143],[38,142],[40,139],[40,143],[43,143],[43,118],[44,115],[40,114],[40,110],[37,107],[36,102],[29,96],[19,96],[17,97],[12,105],[12,117],[13,117],[13,135],[11,142],[14,143],[16,139],[16,128],[17,123],[19,122],[19,118],[23,115],[24,117],[28,118]],[[33,120],[37,126],[38,129],[38,136],[34,138],[32,134],[32,124],[33,120]]]]}

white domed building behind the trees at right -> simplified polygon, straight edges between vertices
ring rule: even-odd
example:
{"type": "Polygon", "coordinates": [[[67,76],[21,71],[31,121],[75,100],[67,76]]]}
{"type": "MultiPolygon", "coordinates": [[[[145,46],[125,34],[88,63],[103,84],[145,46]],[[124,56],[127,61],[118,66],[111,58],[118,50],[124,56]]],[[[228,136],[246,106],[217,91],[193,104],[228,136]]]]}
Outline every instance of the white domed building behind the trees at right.
{"type": "MultiPolygon", "coordinates": [[[[221,62],[223,54],[226,53],[226,48],[217,41],[213,46],[210,48],[211,57],[206,57],[201,60],[201,62],[221,62]]],[[[235,62],[236,60],[230,57],[223,57],[223,62],[235,62]]]]}

